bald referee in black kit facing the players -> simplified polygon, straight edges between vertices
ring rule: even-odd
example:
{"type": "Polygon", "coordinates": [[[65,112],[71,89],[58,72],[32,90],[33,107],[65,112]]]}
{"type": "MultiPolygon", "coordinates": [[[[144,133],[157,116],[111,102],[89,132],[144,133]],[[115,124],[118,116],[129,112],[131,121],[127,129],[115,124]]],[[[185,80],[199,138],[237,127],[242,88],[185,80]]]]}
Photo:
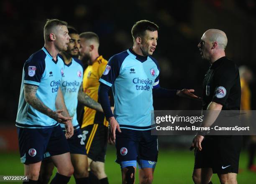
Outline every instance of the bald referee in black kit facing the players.
{"type": "MultiPolygon", "coordinates": [[[[226,34],[217,29],[207,30],[198,48],[203,60],[211,66],[203,81],[203,110],[212,111],[203,127],[210,127],[220,110],[240,110],[241,85],[236,64],[225,57],[228,43],[226,34]]],[[[195,184],[212,184],[217,173],[221,184],[237,184],[242,136],[210,136],[199,132],[192,142],[195,150],[193,181],[195,184]]]]}

